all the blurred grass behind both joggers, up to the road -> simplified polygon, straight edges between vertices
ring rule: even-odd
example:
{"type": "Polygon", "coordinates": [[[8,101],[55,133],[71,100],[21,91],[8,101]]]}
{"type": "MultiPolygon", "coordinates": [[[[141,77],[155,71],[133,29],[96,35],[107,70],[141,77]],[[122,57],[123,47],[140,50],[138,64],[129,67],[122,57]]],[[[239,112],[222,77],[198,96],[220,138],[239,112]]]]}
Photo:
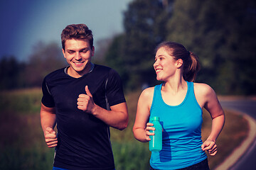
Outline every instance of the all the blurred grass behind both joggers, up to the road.
{"type": "MultiPolygon", "coordinates": [[[[111,141],[117,170],[148,169],[148,143],[132,134],[140,92],[126,95],[129,125],[122,131],[111,128],[111,141]]],[[[41,89],[0,92],[0,169],[51,169],[54,149],[49,149],[40,124],[41,89]]],[[[241,115],[225,111],[226,122],[218,138],[218,154],[208,156],[210,169],[223,162],[247,136],[248,125],[241,115]]],[[[203,112],[203,139],[210,133],[210,115],[203,112]]]]}

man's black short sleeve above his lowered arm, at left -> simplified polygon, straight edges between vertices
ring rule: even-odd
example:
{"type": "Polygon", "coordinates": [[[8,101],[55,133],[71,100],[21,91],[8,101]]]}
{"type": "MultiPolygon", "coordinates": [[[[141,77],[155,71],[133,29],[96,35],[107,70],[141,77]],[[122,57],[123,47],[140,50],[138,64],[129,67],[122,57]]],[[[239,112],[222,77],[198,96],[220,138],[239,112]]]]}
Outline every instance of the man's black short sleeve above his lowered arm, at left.
{"type": "Polygon", "coordinates": [[[53,108],[55,106],[55,102],[53,100],[53,96],[50,95],[50,91],[46,84],[46,78],[43,79],[42,92],[43,92],[43,97],[41,102],[43,103],[43,105],[48,108],[53,108]]]}

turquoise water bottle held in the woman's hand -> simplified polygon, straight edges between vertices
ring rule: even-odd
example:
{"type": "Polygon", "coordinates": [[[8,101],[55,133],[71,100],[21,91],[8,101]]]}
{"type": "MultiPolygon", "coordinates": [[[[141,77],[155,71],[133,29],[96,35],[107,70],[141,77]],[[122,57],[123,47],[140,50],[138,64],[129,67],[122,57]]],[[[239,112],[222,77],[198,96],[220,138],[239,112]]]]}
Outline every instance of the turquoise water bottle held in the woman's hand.
{"type": "Polygon", "coordinates": [[[150,123],[153,123],[156,130],[149,130],[149,132],[154,132],[154,135],[150,135],[149,140],[149,150],[151,152],[159,152],[162,149],[162,126],[159,123],[159,117],[155,116],[150,118],[150,123]]]}

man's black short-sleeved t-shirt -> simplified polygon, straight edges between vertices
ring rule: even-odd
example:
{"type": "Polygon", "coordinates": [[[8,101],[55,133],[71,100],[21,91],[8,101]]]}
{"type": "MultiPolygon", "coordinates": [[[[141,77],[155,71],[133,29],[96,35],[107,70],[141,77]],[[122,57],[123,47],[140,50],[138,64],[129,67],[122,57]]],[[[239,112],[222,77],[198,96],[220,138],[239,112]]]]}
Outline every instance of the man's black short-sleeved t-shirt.
{"type": "Polygon", "coordinates": [[[122,81],[113,69],[95,64],[88,74],[70,77],[58,69],[43,80],[44,106],[56,109],[58,146],[53,166],[64,169],[114,169],[110,127],[78,109],[79,94],[89,87],[98,106],[125,102],[122,81]]]}

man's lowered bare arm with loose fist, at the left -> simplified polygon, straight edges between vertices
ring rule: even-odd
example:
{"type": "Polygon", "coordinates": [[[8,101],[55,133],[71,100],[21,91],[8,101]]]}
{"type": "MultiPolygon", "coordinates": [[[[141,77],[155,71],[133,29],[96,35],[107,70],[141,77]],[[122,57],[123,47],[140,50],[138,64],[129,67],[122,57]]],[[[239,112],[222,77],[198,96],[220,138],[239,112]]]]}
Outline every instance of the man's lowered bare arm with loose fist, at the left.
{"type": "Polygon", "coordinates": [[[48,147],[56,147],[58,140],[53,130],[56,125],[55,108],[48,108],[41,103],[41,126],[48,147]]]}

